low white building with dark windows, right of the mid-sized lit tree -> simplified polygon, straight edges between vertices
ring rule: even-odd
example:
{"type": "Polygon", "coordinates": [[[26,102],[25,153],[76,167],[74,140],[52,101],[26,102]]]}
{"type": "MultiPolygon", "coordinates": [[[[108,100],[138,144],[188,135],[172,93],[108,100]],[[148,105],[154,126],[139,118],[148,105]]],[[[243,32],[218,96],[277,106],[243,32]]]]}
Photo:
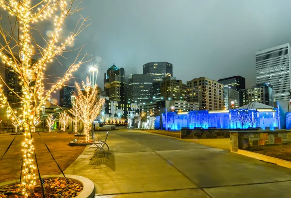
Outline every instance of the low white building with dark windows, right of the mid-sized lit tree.
{"type": "MultiPolygon", "coordinates": [[[[100,116],[104,117],[138,117],[140,115],[140,106],[137,103],[126,103],[110,100],[109,97],[100,97],[104,99],[100,116]]],[[[98,116],[98,117],[100,117],[98,116]]]]}

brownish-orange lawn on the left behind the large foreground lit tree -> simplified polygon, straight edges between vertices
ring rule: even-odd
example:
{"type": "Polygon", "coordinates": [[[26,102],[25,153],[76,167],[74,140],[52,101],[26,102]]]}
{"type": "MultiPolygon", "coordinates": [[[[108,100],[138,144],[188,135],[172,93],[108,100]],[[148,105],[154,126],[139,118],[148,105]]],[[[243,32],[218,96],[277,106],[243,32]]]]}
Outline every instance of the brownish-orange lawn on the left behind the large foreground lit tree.
{"type": "MultiPolygon", "coordinates": [[[[68,145],[69,141],[76,138],[74,137],[74,134],[68,134],[67,132],[41,132],[40,135],[48,145],[51,153],[57,163],[61,166],[62,170],[65,170],[70,164],[72,164],[85,148],[70,147],[68,145]]],[[[0,158],[14,137],[15,135],[0,134],[0,158]]],[[[34,139],[35,153],[41,175],[61,174],[60,169],[51,157],[41,137],[37,133],[32,133],[32,137],[34,139]]],[[[83,139],[84,137],[79,138],[79,140],[83,139]]],[[[21,142],[23,142],[23,140],[24,135],[17,135],[13,144],[0,161],[1,182],[12,181],[17,178],[17,180],[19,180],[22,159],[21,142]]],[[[35,170],[35,173],[37,175],[37,170],[35,170]]]]}

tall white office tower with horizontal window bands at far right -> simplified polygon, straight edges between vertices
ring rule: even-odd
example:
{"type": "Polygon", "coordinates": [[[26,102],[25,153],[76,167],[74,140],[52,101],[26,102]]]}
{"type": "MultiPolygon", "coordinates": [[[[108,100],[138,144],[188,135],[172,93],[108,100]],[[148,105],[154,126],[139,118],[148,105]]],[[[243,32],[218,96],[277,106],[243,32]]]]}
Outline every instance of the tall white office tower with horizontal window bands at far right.
{"type": "Polygon", "coordinates": [[[290,98],[290,60],[291,48],[289,43],[256,52],[257,84],[271,83],[275,91],[275,101],[287,101],[290,98]]]}

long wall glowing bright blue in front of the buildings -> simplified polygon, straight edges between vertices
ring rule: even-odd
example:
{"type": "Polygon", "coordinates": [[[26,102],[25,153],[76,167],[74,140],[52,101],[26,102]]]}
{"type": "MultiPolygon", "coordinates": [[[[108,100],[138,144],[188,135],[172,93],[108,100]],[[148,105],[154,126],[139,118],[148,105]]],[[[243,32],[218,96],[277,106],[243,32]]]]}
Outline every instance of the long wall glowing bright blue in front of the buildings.
{"type": "MultiPolygon", "coordinates": [[[[253,126],[249,122],[245,122],[244,129],[249,127],[260,127],[265,129],[270,127],[274,130],[275,127],[280,128],[280,119],[277,109],[274,111],[256,111],[255,109],[231,109],[229,112],[221,113],[217,111],[190,111],[188,114],[177,114],[176,112],[168,112],[162,114],[162,127],[171,130],[180,130],[182,127],[195,127],[207,129],[209,127],[222,128],[222,129],[242,129],[240,120],[243,112],[247,112],[253,120],[253,126]]],[[[291,118],[291,115],[290,115],[291,118]]],[[[291,122],[291,121],[290,121],[291,122]]],[[[291,127],[291,123],[290,123],[291,127]]]]}

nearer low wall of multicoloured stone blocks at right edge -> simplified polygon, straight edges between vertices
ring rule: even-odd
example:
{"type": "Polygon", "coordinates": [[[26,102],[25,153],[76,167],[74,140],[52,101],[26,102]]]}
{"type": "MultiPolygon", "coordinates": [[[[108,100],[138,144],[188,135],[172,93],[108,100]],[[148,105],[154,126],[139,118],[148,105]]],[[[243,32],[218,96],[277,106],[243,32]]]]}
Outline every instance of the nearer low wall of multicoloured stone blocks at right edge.
{"type": "Polygon", "coordinates": [[[290,130],[231,131],[230,151],[237,152],[253,146],[283,144],[291,142],[290,130]]]}

